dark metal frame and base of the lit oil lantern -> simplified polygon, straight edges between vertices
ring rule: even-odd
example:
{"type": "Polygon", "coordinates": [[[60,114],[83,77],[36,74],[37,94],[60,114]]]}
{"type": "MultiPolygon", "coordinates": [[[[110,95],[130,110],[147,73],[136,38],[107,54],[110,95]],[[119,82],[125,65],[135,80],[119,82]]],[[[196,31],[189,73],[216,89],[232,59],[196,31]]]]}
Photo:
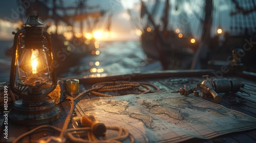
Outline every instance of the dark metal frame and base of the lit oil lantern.
{"type": "MultiPolygon", "coordinates": [[[[42,23],[38,21],[38,15],[30,15],[29,21],[25,23],[25,27],[15,33],[13,42],[13,56],[10,72],[10,89],[22,99],[14,102],[11,110],[9,111],[9,118],[13,123],[23,125],[41,125],[48,124],[54,120],[57,120],[60,116],[60,108],[55,105],[54,100],[50,99],[47,94],[52,92],[57,85],[57,77],[54,68],[53,54],[52,54],[52,39],[51,36],[44,31],[42,23]],[[33,38],[33,34],[40,33],[41,37],[33,38]],[[29,35],[28,35],[29,34],[29,35]],[[27,37],[24,39],[24,37],[27,37]],[[32,38],[29,39],[29,38],[32,38]],[[28,90],[20,91],[16,86],[16,74],[18,67],[19,54],[23,42],[31,47],[33,44],[39,45],[47,40],[48,46],[48,62],[49,62],[49,79],[51,79],[51,85],[43,90],[41,84],[36,85],[23,85],[27,86],[28,90]],[[43,40],[43,41],[40,41],[43,40]],[[32,42],[32,44],[30,44],[32,42]],[[34,42],[34,43],[33,43],[34,42]]],[[[25,47],[26,48],[26,47],[25,47]]],[[[35,48],[37,49],[37,48],[35,48]]]]}

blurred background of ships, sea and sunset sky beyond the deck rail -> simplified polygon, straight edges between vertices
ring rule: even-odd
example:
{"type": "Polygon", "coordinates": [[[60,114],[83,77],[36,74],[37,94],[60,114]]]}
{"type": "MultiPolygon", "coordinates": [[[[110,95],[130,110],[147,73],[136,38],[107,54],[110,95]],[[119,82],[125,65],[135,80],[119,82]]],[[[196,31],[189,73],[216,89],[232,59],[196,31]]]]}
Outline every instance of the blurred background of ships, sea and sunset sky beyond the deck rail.
{"type": "Polygon", "coordinates": [[[9,81],[12,32],[29,13],[53,38],[58,77],[203,69],[231,62],[237,48],[244,69],[256,67],[253,0],[22,0],[0,7],[0,82],[9,81]]]}

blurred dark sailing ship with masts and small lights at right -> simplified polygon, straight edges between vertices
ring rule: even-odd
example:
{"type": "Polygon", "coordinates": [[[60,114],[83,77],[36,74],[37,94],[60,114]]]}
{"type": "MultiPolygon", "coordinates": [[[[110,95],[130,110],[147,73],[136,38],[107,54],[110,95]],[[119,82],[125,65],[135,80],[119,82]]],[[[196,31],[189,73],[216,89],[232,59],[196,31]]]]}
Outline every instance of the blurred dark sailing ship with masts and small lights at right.
{"type": "MultiPolygon", "coordinates": [[[[169,4],[166,0],[164,3],[161,9],[163,14],[159,18],[159,5],[163,5],[162,1],[155,1],[154,4],[152,1],[147,4],[141,1],[140,27],[136,23],[137,28],[142,31],[141,46],[147,58],[160,60],[163,69],[207,68],[208,61],[225,61],[234,48],[243,49],[246,38],[247,41],[256,41],[253,25],[256,7],[254,1],[245,3],[232,0],[230,2],[230,5],[234,6],[230,8],[230,30],[224,30],[221,26],[220,6],[224,2],[202,1],[201,15],[191,10],[195,19],[199,21],[196,34],[191,32],[189,16],[186,15],[184,8],[184,3],[189,3],[191,6],[194,1],[174,1],[173,4],[169,4]],[[172,18],[175,15],[169,15],[171,10],[172,13],[180,13],[179,16],[172,18]],[[217,22],[216,27],[219,28],[220,33],[216,32],[214,22],[217,22]],[[177,23],[180,24],[177,25],[177,23]]],[[[133,19],[134,16],[130,10],[129,13],[133,21],[138,21],[133,19]]],[[[195,28],[193,30],[195,31],[195,28]]],[[[253,54],[255,49],[251,49],[246,56],[242,57],[242,62],[247,65],[245,68],[253,65],[251,62],[255,61],[253,54]]]]}

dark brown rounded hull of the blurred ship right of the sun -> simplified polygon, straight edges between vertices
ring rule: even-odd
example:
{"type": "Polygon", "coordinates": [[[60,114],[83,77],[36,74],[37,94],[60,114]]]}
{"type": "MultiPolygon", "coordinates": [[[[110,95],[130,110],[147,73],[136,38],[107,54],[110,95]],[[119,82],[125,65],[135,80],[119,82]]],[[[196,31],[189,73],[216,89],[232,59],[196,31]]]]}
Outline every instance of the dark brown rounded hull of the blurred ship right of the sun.
{"type": "Polygon", "coordinates": [[[189,38],[175,36],[162,41],[153,32],[143,33],[141,47],[148,59],[160,60],[166,69],[189,69],[198,43],[191,44],[189,38]]]}

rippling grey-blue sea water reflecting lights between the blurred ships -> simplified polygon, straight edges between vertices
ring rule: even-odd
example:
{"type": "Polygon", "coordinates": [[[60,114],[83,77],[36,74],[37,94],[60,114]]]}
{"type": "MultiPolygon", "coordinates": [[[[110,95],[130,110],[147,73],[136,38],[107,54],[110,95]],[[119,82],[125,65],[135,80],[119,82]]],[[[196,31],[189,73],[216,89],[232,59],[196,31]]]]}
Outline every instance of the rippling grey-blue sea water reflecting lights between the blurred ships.
{"type": "MultiPolygon", "coordinates": [[[[12,41],[0,41],[0,82],[9,81],[11,58],[5,55],[12,41]]],[[[88,54],[58,77],[143,73],[161,70],[159,61],[148,62],[139,41],[99,41],[98,55],[88,54]]]]}

